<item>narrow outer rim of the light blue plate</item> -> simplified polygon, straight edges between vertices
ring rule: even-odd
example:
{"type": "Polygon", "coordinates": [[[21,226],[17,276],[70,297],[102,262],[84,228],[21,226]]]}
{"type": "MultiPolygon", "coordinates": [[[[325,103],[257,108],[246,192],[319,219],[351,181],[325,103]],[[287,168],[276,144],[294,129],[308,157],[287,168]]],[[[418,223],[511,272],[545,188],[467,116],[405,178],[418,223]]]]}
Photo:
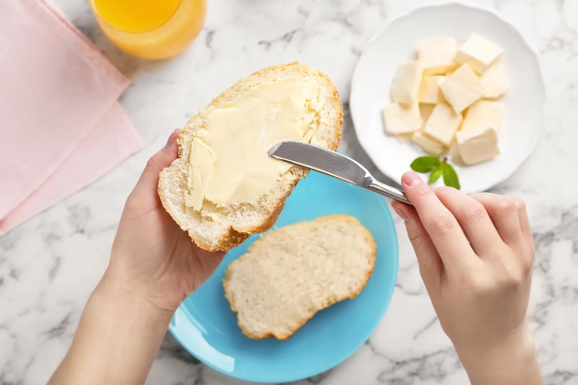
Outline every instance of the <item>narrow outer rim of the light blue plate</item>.
{"type": "MultiPolygon", "coordinates": [[[[389,214],[389,215],[387,215],[387,222],[390,224],[391,229],[394,233],[393,234],[394,235],[394,242],[392,243],[392,246],[393,246],[392,251],[394,252],[394,255],[395,255],[395,258],[393,261],[393,263],[394,263],[394,277],[393,278],[394,279],[392,279],[389,282],[389,286],[387,286],[387,289],[388,289],[388,291],[391,292],[391,295],[388,296],[387,300],[384,302],[383,308],[381,309],[379,317],[376,317],[373,325],[370,328],[368,328],[368,332],[365,334],[364,338],[361,339],[361,342],[356,344],[356,345],[352,345],[351,349],[344,350],[344,353],[342,354],[342,356],[337,358],[335,360],[335,362],[332,362],[327,368],[324,368],[321,371],[319,371],[319,369],[309,369],[309,370],[303,370],[302,372],[299,372],[299,370],[296,369],[294,371],[294,373],[298,373],[297,375],[295,375],[293,377],[284,377],[282,379],[280,379],[280,378],[277,379],[277,378],[271,377],[271,379],[265,380],[264,378],[262,378],[259,375],[253,376],[253,377],[243,376],[243,375],[235,375],[234,372],[225,372],[225,371],[221,370],[220,368],[214,367],[212,364],[209,364],[208,362],[206,362],[202,357],[197,356],[197,354],[193,353],[192,352],[193,349],[191,349],[191,347],[188,346],[187,343],[183,342],[183,340],[179,338],[178,330],[179,330],[180,326],[176,326],[177,323],[173,322],[175,315],[173,315],[173,319],[171,320],[171,323],[169,323],[169,331],[171,332],[173,337],[176,339],[176,341],[179,342],[180,345],[183,346],[184,349],[187,350],[187,352],[189,354],[191,354],[191,356],[193,356],[193,357],[197,358],[197,360],[201,361],[203,365],[206,365],[207,367],[209,367],[209,368],[211,368],[217,372],[223,373],[224,375],[227,375],[229,377],[233,377],[233,378],[244,380],[244,381],[257,382],[257,383],[294,382],[294,381],[303,380],[303,379],[306,379],[306,378],[309,378],[312,376],[316,376],[320,373],[328,371],[329,369],[335,368],[337,365],[341,364],[343,361],[347,360],[347,358],[351,357],[355,352],[357,352],[357,350],[360,349],[360,347],[362,345],[364,345],[364,343],[373,334],[373,332],[375,331],[375,329],[377,328],[377,326],[379,325],[381,320],[383,320],[383,316],[386,313],[386,310],[390,305],[391,298],[393,297],[395,285],[397,284],[397,277],[399,274],[399,242],[398,242],[398,238],[397,238],[397,230],[395,229],[395,223],[394,223],[394,220],[392,218],[391,212],[387,206],[386,200],[380,199],[379,201],[380,201],[382,208],[386,212],[388,212],[388,214],[389,214]]],[[[181,305],[179,305],[179,309],[177,309],[177,312],[182,311],[182,310],[180,310],[180,306],[181,305]]]]}

